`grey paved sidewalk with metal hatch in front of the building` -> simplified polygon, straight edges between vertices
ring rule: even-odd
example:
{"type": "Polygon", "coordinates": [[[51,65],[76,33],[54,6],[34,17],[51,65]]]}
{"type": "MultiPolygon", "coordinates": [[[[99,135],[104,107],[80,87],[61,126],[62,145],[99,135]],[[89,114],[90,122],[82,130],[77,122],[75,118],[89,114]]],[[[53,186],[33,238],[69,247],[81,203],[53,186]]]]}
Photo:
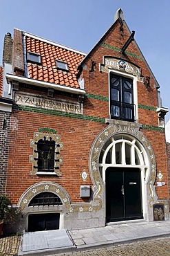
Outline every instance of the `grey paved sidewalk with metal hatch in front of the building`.
{"type": "Polygon", "coordinates": [[[141,220],[111,223],[103,228],[85,230],[28,232],[23,234],[18,255],[54,255],[169,235],[170,221],[141,220]]]}

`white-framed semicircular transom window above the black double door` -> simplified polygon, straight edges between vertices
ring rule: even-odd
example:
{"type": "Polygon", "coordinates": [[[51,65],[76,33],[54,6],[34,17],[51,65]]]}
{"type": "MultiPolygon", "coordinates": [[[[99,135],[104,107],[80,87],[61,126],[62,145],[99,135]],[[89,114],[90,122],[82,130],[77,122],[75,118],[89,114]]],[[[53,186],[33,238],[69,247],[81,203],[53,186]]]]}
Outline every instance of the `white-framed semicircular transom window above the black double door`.
{"type": "Polygon", "coordinates": [[[109,166],[146,167],[146,152],[139,141],[125,134],[116,135],[105,143],[99,156],[100,174],[109,166]]]}

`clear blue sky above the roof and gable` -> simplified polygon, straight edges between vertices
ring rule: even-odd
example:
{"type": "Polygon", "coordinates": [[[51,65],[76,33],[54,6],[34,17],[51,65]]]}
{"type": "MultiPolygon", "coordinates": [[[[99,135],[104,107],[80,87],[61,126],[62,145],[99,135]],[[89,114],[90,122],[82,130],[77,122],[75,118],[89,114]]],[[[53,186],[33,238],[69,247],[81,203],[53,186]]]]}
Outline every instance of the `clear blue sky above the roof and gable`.
{"type": "MultiPolygon", "coordinates": [[[[88,53],[122,8],[130,30],[160,84],[162,107],[170,111],[169,0],[0,0],[0,64],[3,39],[19,28],[88,53]]],[[[166,120],[169,120],[170,113],[166,120]]]]}

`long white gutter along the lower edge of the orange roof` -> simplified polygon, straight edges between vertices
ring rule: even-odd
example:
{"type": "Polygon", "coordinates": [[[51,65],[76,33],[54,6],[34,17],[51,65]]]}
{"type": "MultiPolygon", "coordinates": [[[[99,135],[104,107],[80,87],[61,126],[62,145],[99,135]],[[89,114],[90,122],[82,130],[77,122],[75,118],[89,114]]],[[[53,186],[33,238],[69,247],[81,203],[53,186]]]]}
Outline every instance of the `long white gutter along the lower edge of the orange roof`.
{"type": "Polygon", "coordinates": [[[75,89],[72,87],[68,87],[68,86],[63,86],[60,84],[52,84],[50,82],[44,82],[44,81],[39,81],[39,80],[34,80],[32,78],[28,78],[28,77],[21,77],[19,75],[12,75],[7,73],[6,74],[6,79],[7,82],[10,83],[12,81],[17,81],[20,83],[25,83],[25,84],[32,84],[34,86],[41,86],[41,87],[45,87],[45,88],[52,88],[58,91],[65,91],[67,93],[74,93],[74,94],[78,94],[78,95],[85,95],[85,90],[83,89],[75,89]]]}

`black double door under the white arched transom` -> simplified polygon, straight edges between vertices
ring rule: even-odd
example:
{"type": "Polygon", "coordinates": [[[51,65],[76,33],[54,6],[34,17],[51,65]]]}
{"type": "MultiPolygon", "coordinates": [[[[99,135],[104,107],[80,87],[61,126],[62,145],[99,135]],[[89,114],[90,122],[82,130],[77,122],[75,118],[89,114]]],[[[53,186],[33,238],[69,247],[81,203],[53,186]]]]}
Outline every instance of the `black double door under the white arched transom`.
{"type": "Polygon", "coordinates": [[[142,219],[140,170],[108,167],[105,181],[107,222],[142,219]]]}

